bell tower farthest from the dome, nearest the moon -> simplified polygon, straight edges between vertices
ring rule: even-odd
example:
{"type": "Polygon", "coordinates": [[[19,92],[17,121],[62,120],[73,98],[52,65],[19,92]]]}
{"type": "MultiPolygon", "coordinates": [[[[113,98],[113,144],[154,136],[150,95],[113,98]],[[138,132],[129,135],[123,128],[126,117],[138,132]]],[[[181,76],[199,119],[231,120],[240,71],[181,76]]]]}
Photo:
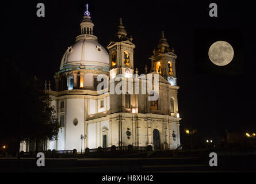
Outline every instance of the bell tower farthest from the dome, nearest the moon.
{"type": "Polygon", "coordinates": [[[151,71],[162,75],[172,86],[176,86],[175,60],[177,55],[174,54],[174,49],[169,47],[170,45],[162,31],[158,47],[154,49],[153,55],[149,58],[151,60],[151,71]]]}

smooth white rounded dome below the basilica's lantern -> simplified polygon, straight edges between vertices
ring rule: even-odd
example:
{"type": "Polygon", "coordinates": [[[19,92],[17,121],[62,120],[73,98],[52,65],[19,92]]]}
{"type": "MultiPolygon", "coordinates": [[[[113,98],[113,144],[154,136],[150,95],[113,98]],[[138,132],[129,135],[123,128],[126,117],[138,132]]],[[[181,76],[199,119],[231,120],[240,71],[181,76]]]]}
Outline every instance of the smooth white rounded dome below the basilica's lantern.
{"type": "Polygon", "coordinates": [[[109,54],[97,40],[82,39],[75,42],[62,57],[63,65],[109,66],[109,54]]]}

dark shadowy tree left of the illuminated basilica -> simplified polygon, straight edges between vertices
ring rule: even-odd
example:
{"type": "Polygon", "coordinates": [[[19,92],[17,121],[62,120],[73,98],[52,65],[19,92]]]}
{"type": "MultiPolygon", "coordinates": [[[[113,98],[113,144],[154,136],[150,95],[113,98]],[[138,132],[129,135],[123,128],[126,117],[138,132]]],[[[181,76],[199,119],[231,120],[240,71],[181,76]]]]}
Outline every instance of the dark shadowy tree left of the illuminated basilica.
{"type": "Polygon", "coordinates": [[[50,106],[49,94],[44,93],[43,82],[18,70],[14,64],[5,63],[2,72],[3,123],[0,141],[16,143],[16,152],[23,140],[35,141],[36,151],[40,140],[58,137],[59,122],[55,118],[55,107],[50,106]]]}

